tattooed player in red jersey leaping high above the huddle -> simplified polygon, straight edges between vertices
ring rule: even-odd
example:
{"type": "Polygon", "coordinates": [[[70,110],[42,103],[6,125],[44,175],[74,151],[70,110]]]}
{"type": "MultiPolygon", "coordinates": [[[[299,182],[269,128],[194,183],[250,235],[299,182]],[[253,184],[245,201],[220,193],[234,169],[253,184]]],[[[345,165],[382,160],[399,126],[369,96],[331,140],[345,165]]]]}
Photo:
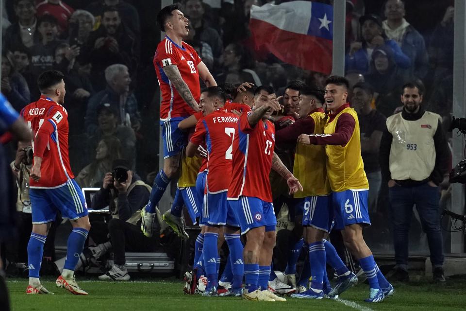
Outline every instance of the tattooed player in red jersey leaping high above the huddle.
{"type": "MultiPolygon", "coordinates": [[[[183,42],[183,38],[189,35],[189,24],[178,7],[164,7],[157,14],[157,23],[166,33],[157,46],[153,60],[162,93],[160,126],[164,141],[164,168],[155,177],[149,202],[141,212],[141,230],[148,237],[153,234],[155,207],[171,178],[178,172],[181,151],[186,143],[186,134],[178,129],[178,123],[199,111],[199,78],[206,86],[217,85],[196,51],[183,42]]],[[[164,220],[179,236],[189,237],[184,231],[181,209],[167,211],[164,220]]]]}

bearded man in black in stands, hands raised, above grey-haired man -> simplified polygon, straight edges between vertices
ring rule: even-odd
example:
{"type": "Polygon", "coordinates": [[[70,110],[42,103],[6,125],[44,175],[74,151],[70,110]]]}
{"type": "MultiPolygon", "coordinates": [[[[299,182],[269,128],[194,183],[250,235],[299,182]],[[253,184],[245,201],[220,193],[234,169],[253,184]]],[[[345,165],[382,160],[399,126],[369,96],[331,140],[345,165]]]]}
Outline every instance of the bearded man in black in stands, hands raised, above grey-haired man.
{"type": "Polygon", "coordinates": [[[107,7],[102,13],[102,26],[90,39],[93,84],[102,89],[103,71],[112,64],[124,64],[135,74],[137,64],[137,42],[134,34],[126,29],[116,7],[107,7]]]}

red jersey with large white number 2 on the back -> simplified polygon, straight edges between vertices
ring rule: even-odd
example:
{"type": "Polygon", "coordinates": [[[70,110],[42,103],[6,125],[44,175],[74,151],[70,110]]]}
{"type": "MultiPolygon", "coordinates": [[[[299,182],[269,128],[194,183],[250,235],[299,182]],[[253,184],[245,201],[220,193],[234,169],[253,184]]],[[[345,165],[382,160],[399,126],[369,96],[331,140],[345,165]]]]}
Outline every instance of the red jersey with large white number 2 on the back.
{"type": "Polygon", "coordinates": [[[232,176],[233,138],[238,116],[219,108],[200,119],[191,142],[207,145],[206,191],[219,193],[228,190],[232,176]]]}

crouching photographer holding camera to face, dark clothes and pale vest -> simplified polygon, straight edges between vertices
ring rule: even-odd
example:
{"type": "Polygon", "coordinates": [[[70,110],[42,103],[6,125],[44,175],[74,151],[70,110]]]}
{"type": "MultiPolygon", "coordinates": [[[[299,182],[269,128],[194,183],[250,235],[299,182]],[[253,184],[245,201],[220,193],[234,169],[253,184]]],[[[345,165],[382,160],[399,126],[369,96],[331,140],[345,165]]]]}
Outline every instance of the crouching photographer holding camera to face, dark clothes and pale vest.
{"type": "Polygon", "coordinates": [[[130,276],[125,267],[125,250],[150,252],[158,245],[157,235],[147,238],[139,229],[141,208],[149,200],[151,188],[130,168],[127,160],[114,160],[112,173],[105,174],[102,188],[92,198],[93,209],[108,206],[112,214],[108,225],[93,222],[93,230],[90,232],[92,239],[98,243],[106,242],[103,237],[106,237],[108,232],[113,246],[114,265],[106,274],[99,276],[101,280],[129,280],[130,276]]]}

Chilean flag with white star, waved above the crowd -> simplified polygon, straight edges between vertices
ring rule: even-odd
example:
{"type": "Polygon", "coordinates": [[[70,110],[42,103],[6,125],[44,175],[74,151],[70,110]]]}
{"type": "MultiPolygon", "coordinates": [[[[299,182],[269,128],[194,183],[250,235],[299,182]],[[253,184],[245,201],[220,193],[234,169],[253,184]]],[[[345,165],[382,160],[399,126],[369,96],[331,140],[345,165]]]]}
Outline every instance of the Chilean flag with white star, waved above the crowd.
{"type": "Polygon", "coordinates": [[[333,7],[310,1],[253,5],[249,28],[254,49],[283,62],[330,74],[333,7]]]}

